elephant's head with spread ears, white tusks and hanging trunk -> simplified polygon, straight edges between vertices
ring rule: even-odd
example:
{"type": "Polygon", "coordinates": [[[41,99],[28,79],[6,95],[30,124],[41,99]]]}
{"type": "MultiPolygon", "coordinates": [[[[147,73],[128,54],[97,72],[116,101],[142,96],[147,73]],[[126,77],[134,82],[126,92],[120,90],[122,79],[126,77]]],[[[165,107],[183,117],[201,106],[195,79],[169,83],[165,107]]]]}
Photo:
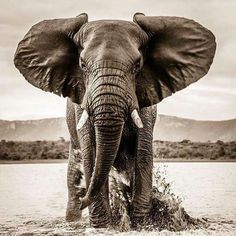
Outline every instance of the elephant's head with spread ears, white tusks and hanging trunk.
{"type": "Polygon", "coordinates": [[[87,15],[42,21],[19,43],[15,65],[34,86],[81,104],[96,136],[96,161],[81,209],[92,203],[116,157],[123,125],[138,110],[203,77],[215,53],[213,34],[179,17],[135,14],[134,22],[87,22],[87,15]]]}

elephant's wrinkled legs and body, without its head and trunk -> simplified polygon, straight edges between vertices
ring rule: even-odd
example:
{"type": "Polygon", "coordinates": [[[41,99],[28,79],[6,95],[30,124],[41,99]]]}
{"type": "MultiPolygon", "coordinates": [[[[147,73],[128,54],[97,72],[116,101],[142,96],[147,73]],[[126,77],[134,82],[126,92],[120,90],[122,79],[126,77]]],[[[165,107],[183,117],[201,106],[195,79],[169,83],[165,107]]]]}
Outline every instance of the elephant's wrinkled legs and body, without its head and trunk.
{"type": "MultiPolygon", "coordinates": [[[[79,176],[82,170],[82,165],[78,163],[84,160],[84,174],[87,182],[87,176],[91,176],[93,172],[94,161],[96,158],[95,151],[95,134],[93,122],[89,120],[86,125],[79,131],[78,140],[77,133],[73,127],[76,126],[78,118],[82,113],[80,106],[73,104],[70,100],[67,103],[67,123],[71,134],[71,145],[75,150],[81,149],[80,154],[75,154],[71,149],[68,167],[68,190],[69,201],[67,207],[67,219],[76,220],[81,216],[81,211],[78,209],[79,191],[78,186],[81,186],[79,176]],[[85,151],[87,150],[87,151],[85,151]]],[[[156,107],[144,108],[140,111],[140,117],[143,121],[144,128],[138,130],[131,118],[124,125],[123,134],[118,150],[118,154],[113,166],[116,168],[123,178],[130,183],[133,188],[133,222],[143,220],[149,214],[151,207],[151,189],[152,189],[152,168],[153,168],[153,126],[156,119],[156,107]],[[135,175],[134,175],[135,173],[135,175]]],[[[108,184],[103,187],[100,193],[103,196],[108,196],[108,184]]],[[[93,226],[106,227],[110,224],[110,207],[108,197],[99,197],[90,207],[90,221],[93,226]]]]}

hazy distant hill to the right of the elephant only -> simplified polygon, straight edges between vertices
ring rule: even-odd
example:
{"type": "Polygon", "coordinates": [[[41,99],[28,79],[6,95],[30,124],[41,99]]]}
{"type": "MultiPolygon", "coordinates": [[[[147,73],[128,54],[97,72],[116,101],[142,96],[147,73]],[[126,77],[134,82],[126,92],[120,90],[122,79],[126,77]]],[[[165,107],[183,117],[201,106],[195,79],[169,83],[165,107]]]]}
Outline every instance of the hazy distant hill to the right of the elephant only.
{"type": "Polygon", "coordinates": [[[154,130],[155,140],[193,142],[236,141],[236,119],[199,121],[160,115],[154,130]]]}

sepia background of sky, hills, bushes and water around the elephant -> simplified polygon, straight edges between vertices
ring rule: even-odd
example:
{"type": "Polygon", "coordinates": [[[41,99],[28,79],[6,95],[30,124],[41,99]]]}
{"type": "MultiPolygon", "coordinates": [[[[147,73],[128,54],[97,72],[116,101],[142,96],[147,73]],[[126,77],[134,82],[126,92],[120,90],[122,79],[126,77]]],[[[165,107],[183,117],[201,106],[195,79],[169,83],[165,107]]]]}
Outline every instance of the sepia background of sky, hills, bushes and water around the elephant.
{"type": "MultiPolygon", "coordinates": [[[[173,210],[176,221],[169,227],[184,224],[183,209],[206,223],[194,229],[185,225],[178,235],[236,235],[235,9],[235,0],[0,0],[0,235],[98,232],[89,226],[87,212],[82,223],[65,222],[66,99],[33,87],[13,64],[17,43],[32,25],[82,12],[90,21],[131,21],[136,12],[181,16],[215,34],[209,73],[158,104],[153,182],[169,203],[165,209],[173,210]]],[[[174,235],[167,229],[150,235],[174,235]]],[[[128,229],[122,235],[149,233],[128,229]]]]}

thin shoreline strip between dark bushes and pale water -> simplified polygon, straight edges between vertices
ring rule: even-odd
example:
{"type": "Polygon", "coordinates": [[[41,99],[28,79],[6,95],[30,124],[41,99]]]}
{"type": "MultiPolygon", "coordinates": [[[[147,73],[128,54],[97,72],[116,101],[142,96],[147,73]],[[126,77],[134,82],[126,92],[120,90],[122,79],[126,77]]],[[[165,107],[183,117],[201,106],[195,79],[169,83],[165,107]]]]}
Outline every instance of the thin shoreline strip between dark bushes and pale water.
{"type": "MultiPolygon", "coordinates": [[[[193,159],[179,159],[179,158],[176,158],[176,159],[154,159],[153,160],[154,162],[160,162],[160,163],[169,163],[169,162],[176,162],[176,163],[200,163],[200,162],[207,162],[207,163],[210,163],[210,162],[219,162],[219,163],[222,163],[222,162],[236,162],[235,159],[233,160],[210,160],[210,159],[196,159],[196,160],[193,160],[193,159]]],[[[7,160],[7,161],[4,161],[4,160],[0,160],[0,165],[8,165],[8,164],[59,164],[59,163],[67,163],[68,160],[67,159],[47,159],[47,160],[40,160],[40,159],[37,159],[37,160],[21,160],[21,161],[13,161],[13,160],[7,160]]]]}

